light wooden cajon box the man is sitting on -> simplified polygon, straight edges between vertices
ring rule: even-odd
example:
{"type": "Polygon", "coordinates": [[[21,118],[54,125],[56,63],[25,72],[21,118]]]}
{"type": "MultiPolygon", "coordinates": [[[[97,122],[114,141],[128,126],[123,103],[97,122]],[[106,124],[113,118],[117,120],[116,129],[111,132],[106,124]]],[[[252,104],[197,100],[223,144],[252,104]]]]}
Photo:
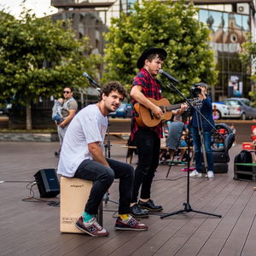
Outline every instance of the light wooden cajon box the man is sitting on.
{"type": "MultiPolygon", "coordinates": [[[[92,182],[76,177],[61,177],[61,214],[62,233],[83,233],[75,223],[84,212],[90,195],[92,182]]],[[[99,207],[98,222],[102,224],[102,207],[99,207]],[[100,218],[100,221],[99,221],[100,218]]]]}

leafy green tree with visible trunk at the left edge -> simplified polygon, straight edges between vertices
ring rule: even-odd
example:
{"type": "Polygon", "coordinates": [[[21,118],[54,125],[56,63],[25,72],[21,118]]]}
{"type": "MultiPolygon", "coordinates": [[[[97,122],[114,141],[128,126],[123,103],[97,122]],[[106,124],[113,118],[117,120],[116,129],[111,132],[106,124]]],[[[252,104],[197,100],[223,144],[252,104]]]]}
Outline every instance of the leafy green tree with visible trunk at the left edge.
{"type": "MultiPolygon", "coordinates": [[[[67,25],[67,24],[66,24],[67,25]]],[[[39,96],[57,96],[63,86],[87,84],[84,69],[93,73],[97,57],[89,54],[89,40],[75,38],[63,22],[38,19],[30,11],[19,20],[0,17],[0,99],[13,98],[26,105],[26,129],[32,129],[31,104],[39,96]]]]}

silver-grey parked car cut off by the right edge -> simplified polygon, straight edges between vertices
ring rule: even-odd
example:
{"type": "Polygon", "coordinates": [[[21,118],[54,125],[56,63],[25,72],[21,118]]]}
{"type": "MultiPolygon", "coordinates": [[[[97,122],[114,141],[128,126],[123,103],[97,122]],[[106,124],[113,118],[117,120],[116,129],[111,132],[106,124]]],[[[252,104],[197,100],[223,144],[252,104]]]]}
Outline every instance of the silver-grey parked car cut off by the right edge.
{"type": "Polygon", "coordinates": [[[256,118],[256,108],[250,106],[250,100],[246,98],[228,98],[224,104],[230,108],[230,118],[254,119],[256,118]]]}

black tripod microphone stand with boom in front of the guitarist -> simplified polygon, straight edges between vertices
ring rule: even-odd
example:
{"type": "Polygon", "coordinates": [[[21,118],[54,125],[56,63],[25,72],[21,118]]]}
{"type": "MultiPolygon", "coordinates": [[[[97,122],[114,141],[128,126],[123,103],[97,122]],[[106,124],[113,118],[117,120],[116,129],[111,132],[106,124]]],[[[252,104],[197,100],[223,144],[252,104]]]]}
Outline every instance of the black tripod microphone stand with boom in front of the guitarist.
{"type": "MultiPolygon", "coordinates": [[[[172,87],[170,87],[168,84],[167,84],[166,86],[167,86],[169,89],[171,89],[171,90],[172,90],[172,89],[176,90],[177,93],[178,93],[178,95],[179,95],[179,96],[182,96],[183,99],[189,104],[189,107],[190,107],[190,108],[193,108],[193,109],[196,111],[196,113],[199,113],[200,116],[201,116],[203,119],[207,120],[207,119],[198,111],[198,109],[196,109],[196,108],[189,102],[188,98],[187,98],[186,96],[183,96],[182,92],[181,92],[180,90],[178,90],[177,87],[172,84],[172,80],[171,80],[171,79],[168,79],[168,80],[169,80],[169,84],[171,84],[172,87]]],[[[208,120],[207,120],[207,122],[212,126],[212,124],[211,124],[208,120]]],[[[215,130],[217,130],[215,127],[212,127],[212,128],[214,128],[215,130]]],[[[189,142],[190,142],[190,131],[189,131],[189,133],[188,133],[188,158],[189,158],[189,156],[190,156],[190,145],[189,145],[190,143],[189,143],[189,142]]],[[[197,212],[197,213],[201,213],[201,214],[207,214],[207,215],[215,216],[215,217],[218,217],[218,218],[222,218],[222,216],[219,215],[219,214],[213,214],[213,213],[209,213],[209,212],[196,211],[196,210],[193,210],[192,207],[190,206],[190,204],[189,204],[189,188],[190,188],[190,187],[189,187],[189,186],[190,186],[190,183],[189,183],[189,167],[190,167],[190,160],[188,160],[188,171],[187,171],[187,201],[186,201],[186,202],[183,202],[183,207],[184,207],[184,209],[183,209],[183,210],[176,211],[176,212],[166,213],[166,214],[160,216],[160,218],[166,218],[166,217],[169,217],[169,216],[172,216],[172,215],[175,215],[175,214],[179,214],[179,213],[183,213],[183,212],[197,212]]]]}

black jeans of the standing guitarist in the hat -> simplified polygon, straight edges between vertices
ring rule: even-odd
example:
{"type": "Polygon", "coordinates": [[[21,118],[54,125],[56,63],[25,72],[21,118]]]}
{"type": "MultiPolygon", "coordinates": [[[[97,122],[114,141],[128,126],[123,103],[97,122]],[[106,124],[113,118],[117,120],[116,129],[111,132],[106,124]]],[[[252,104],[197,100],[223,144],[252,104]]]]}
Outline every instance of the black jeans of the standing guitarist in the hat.
{"type": "Polygon", "coordinates": [[[137,202],[138,191],[141,189],[141,198],[150,198],[151,184],[154,172],[159,164],[160,138],[154,131],[140,129],[135,134],[137,143],[138,165],[135,170],[131,202],[137,202]]]}

